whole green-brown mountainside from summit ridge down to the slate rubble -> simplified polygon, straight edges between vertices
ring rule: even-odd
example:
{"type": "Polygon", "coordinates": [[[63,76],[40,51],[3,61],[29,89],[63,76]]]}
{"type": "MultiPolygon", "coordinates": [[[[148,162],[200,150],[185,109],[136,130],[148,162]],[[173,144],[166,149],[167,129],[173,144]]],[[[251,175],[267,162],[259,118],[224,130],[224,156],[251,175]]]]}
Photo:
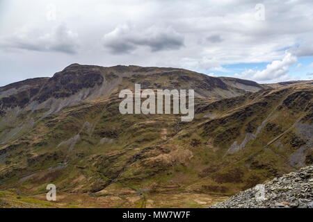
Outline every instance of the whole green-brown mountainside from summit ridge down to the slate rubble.
{"type": "Polygon", "coordinates": [[[52,183],[56,207],[205,207],[313,163],[312,96],[307,82],[73,64],[0,88],[0,190],[44,200],[52,183]],[[120,114],[135,83],[194,89],[195,118],[120,114]]]}

